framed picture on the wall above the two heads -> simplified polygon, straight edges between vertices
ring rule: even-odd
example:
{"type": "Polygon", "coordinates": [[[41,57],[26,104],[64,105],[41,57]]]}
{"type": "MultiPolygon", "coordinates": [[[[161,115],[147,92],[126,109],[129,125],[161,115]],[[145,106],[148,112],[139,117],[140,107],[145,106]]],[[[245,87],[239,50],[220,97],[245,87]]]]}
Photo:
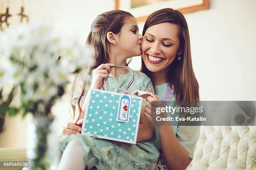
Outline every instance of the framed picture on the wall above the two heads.
{"type": "Polygon", "coordinates": [[[181,13],[192,13],[209,8],[209,0],[115,0],[115,9],[132,13],[138,22],[144,22],[156,10],[170,7],[181,13]]]}

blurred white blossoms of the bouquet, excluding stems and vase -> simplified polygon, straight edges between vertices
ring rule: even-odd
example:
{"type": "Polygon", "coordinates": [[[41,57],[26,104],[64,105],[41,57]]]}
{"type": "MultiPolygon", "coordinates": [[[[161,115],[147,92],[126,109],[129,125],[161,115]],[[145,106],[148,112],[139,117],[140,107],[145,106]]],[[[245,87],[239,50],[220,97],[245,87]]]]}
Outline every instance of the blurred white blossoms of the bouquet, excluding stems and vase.
{"type": "Polygon", "coordinates": [[[38,111],[44,111],[72,72],[92,64],[92,50],[79,44],[72,33],[33,23],[0,32],[0,86],[23,85],[20,99],[43,100],[38,111]]]}

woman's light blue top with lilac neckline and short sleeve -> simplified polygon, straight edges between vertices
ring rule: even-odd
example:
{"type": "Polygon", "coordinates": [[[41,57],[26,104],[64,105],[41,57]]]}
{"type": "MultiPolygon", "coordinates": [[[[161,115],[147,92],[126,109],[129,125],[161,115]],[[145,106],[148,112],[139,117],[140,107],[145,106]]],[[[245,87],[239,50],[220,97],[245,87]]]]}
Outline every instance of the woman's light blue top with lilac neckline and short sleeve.
{"type": "MultiPolygon", "coordinates": [[[[156,95],[161,98],[162,101],[174,101],[174,88],[169,87],[167,83],[162,85],[157,85],[155,87],[156,95]]],[[[151,141],[154,143],[158,150],[161,150],[161,142],[159,138],[159,131],[157,126],[154,127],[154,135],[151,141]]],[[[187,151],[188,156],[193,158],[194,149],[197,143],[197,140],[200,135],[200,126],[179,126],[172,125],[174,130],[174,134],[176,134],[176,138],[179,141],[179,144],[187,151]]],[[[172,143],[170,143],[172,145],[172,143]]]]}

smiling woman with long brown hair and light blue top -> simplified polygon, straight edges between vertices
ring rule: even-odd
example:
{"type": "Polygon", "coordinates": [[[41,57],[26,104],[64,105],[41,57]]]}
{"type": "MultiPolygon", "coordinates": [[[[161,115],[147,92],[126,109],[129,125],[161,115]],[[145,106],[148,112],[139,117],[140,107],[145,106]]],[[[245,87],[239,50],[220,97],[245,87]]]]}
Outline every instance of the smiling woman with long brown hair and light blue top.
{"type": "MultiPolygon", "coordinates": [[[[142,72],[151,78],[157,95],[147,97],[145,116],[152,119],[152,100],[199,101],[184,16],[171,8],[158,10],[147,18],[142,35],[142,72]]],[[[199,134],[198,126],[155,126],[151,140],[169,169],[183,170],[193,158],[199,134]]]]}

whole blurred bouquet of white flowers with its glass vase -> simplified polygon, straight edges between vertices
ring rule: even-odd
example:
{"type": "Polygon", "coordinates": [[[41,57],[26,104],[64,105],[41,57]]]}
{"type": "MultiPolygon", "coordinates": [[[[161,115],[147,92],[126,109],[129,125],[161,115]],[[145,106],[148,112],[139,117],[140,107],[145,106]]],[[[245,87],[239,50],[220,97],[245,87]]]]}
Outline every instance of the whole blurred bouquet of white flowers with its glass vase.
{"type": "Polygon", "coordinates": [[[68,77],[89,67],[90,54],[76,36],[47,25],[26,23],[0,32],[0,118],[33,115],[38,142],[32,169],[49,168],[44,158],[53,121],[51,107],[64,94],[68,77]],[[15,95],[18,106],[10,105],[15,95]]]}

